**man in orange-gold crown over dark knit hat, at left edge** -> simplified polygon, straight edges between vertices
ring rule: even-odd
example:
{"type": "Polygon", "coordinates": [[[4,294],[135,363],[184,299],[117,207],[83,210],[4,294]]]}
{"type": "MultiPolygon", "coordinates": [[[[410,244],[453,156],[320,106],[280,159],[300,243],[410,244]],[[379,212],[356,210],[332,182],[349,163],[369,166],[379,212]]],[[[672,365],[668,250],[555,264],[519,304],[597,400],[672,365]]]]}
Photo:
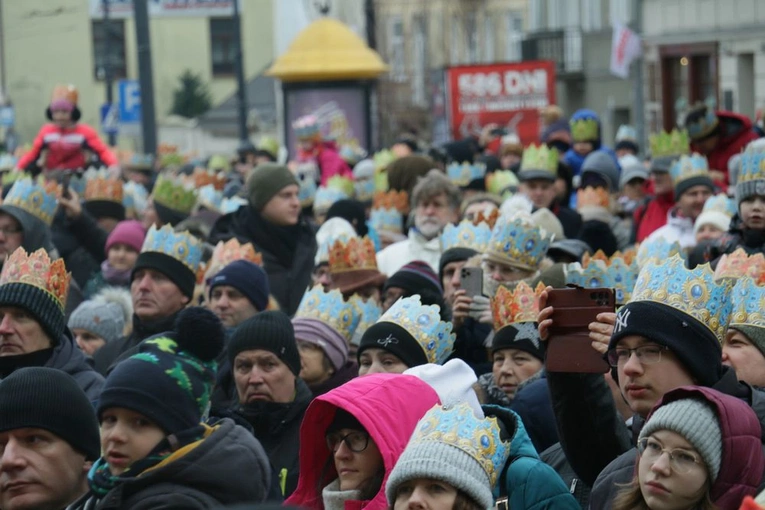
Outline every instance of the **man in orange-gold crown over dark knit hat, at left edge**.
{"type": "Polygon", "coordinates": [[[95,401],[103,378],[88,364],[66,329],[64,306],[70,276],[63,260],[45,250],[18,248],[0,273],[0,379],[21,367],[56,368],[74,377],[95,401]]]}

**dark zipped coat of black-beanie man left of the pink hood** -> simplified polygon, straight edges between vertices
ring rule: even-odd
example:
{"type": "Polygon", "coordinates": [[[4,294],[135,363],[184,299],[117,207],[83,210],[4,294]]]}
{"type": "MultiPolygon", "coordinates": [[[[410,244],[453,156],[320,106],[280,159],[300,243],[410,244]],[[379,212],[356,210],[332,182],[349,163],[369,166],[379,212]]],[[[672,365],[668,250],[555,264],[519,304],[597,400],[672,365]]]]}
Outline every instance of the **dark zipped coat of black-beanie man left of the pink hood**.
{"type": "Polygon", "coordinates": [[[251,402],[237,405],[234,411],[253,429],[279,478],[284,497],[292,494],[298,481],[298,452],[300,424],[313,395],[302,379],[296,380],[296,395],[292,402],[251,402]]]}

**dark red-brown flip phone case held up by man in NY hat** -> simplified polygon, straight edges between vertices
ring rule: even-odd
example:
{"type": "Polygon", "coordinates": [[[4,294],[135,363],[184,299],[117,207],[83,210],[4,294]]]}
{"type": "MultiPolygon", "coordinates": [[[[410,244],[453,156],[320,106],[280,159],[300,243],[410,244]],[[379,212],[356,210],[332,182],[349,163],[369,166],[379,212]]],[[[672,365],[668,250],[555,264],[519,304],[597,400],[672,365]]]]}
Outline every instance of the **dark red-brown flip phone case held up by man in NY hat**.
{"type": "Polygon", "coordinates": [[[548,293],[547,306],[553,307],[553,326],[547,340],[545,368],[550,372],[608,372],[611,367],[605,357],[592,348],[589,325],[599,313],[616,310],[614,290],[553,289],[548,293]]]}

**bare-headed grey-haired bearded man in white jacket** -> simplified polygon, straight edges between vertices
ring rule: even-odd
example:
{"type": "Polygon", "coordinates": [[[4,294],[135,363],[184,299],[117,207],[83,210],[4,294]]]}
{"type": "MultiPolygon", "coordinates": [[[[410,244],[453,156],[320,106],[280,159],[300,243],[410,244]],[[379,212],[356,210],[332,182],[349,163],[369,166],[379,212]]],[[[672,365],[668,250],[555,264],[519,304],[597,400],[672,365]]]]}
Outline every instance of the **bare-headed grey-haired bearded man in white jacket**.
{"type": "Polygon", "coordinates": [[[446,175],[431,170],[412,192],[414,227],[407,239],[392,244],[377,254],[380,272],[392,275],[413,260],[427,262],[438,272],[441,260],[439,234],[459,218],[460,192],[446,175]]]}

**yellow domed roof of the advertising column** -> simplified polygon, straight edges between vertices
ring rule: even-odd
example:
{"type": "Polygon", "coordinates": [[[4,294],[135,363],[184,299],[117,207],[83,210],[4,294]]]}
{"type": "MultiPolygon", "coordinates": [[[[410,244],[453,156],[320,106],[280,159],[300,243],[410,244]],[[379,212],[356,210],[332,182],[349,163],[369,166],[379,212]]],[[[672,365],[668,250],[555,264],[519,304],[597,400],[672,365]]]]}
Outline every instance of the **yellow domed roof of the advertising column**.
{"type": "Polygon", "coordinates": [[[332,18],[311,23],[266,74],[282,81],[376,78],[388,70],[380,55],[332,18]]]}

